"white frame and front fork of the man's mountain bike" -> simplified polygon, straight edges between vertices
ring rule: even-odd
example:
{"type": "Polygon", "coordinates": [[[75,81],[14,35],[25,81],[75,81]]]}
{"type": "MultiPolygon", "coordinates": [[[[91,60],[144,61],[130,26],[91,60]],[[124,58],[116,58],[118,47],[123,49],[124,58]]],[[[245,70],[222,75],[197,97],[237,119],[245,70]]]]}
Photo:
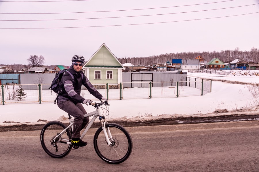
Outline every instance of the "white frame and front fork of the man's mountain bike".
{"type": "MultiPolygon", "coordinates": [[[[84,137],[85,137],[85,134],[87,133],[87,131],[90,129],[90,127],[93,125],[94,121],[96,120],[97,116],[101,116],[101,112],[100,112],[100,109],[96,109],[95,111],[93,112],[90,112],[88,114],[85,114],[84,115],[84,118],[85,117],[88,117],[88,116],[93,116],[93,118],[91,119],[91,121],[89,122],[89,124],[87,125],[87,127],[85,128],[85,131],[83,132],[83,134],[81,135],[80,139],[82,140],[84,137]]],[[[70,125],[68,125],[68,127],[66,127],[61,133],[59,133],[56,137],[62,135],[70,126],[73,125],[74,123],[74,119],[71,119],[69,120],[70,122],[70,125]]],[[[111,136],[111,132],[110,132],[110,129],[108,128],[107,131],[108,131],[108,134],[106,132],[106,128],[105,128],[105,124],[107,123],[106,121],[102,122],[102,131],[104,132],[104,135],[105,135],[105,139],[107,141],[107,144],[112,146],[112,143],[110,141],[110,139],[112,138],[111,136]]],[[[55,138],[56,138],[55,137],[55,138]]],[[[63,139],[62,140],[66,141],[67,143],[66,144],[71,144],[71,142],[68,140],[68,139],[63,139]]]]}

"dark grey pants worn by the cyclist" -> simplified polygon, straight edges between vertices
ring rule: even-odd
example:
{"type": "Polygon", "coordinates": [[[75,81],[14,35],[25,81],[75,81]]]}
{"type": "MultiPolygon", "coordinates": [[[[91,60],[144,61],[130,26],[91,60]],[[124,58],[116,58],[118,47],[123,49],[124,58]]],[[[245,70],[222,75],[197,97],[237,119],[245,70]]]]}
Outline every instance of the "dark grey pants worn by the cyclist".
{"type": "Polygon", "coordinates": [[[75,105],[71,101],[62,101],[58,102],[58,107],[75,118],[72,138],[79,138],[81,136],[80,131],[89,122],[89,117],[84,118],[86,111],[83,105],[81,103],[75,105]]]}

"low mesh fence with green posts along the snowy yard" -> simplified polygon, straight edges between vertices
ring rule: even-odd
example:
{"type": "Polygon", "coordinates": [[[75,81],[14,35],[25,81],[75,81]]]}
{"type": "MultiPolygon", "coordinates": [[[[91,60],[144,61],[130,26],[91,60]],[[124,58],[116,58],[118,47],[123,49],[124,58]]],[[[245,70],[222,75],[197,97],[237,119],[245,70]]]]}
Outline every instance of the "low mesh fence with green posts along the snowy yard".
{"type": "MultiPolygon", "coordinates": [[[[177,98],[204,95],[211,92],[210,80],[189,77],[185,80],[187,81],[93,83],[93,85],[108,100],[177,98]]],[[[50,91],[49,87],[50,84],[1,85],[1,104],[54,102],[56,93],[50,91]],[[19,92],[25,94],[23,98],[17,95],[19,92]]],[[[82,87],[81,96],[98,100],[85,87],[82,87]]]]}

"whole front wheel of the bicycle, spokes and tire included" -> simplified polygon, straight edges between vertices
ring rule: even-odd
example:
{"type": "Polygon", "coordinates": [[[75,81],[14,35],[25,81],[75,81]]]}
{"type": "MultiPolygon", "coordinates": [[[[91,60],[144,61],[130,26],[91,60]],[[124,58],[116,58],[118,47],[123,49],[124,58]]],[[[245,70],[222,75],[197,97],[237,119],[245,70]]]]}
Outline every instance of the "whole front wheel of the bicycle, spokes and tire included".
{"type": "Polygon", "coordinates": [[[128,131],[119,124],[108,123],[105,125],[106,132],[111,132],[112,138],[109,146],[105,139],[102,127],[94,135],[94,149],[97,155],[107,163],[119,164],[127,160],[132,152],[132,139],[128,131]]]}

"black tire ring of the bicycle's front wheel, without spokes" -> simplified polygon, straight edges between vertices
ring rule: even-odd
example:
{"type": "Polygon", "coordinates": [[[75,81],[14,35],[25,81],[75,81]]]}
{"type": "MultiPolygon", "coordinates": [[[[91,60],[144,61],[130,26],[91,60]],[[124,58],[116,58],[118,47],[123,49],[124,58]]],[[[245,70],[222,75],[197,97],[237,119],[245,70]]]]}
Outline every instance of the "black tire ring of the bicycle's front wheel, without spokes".
{"type": "Polygon", "coordinates": [[[108,127],[116,127],[118,129],[120,129],[127,137],[127,140],[128,140],[128,150],[127,150],[127,153],[125,154],[125,156],[123,156],[123,158],[119,159],[119,160],[110,160],[106,157],[104,157],[101,153],[100,153],[100,150],[98,149],[98,145],[97,145],[97,140],[98,140],[98,136],[99,134],[101,133],[102,131],[102,127],[98,128],[98,130],[96,131],[96,133],[94,134],[94,150],[95,152],[97,153],[97,155],[102,159],[104,160],[106,163],[110,163],[110,164],[119,164],[119,163],[123,163],[125,160],[127,160],[132,152],[132,138],[129,134],[129,132],[121,125],[119,124],[115,124],[115,123],[108,123],[105,125],[106,128],[108,127]]]}

